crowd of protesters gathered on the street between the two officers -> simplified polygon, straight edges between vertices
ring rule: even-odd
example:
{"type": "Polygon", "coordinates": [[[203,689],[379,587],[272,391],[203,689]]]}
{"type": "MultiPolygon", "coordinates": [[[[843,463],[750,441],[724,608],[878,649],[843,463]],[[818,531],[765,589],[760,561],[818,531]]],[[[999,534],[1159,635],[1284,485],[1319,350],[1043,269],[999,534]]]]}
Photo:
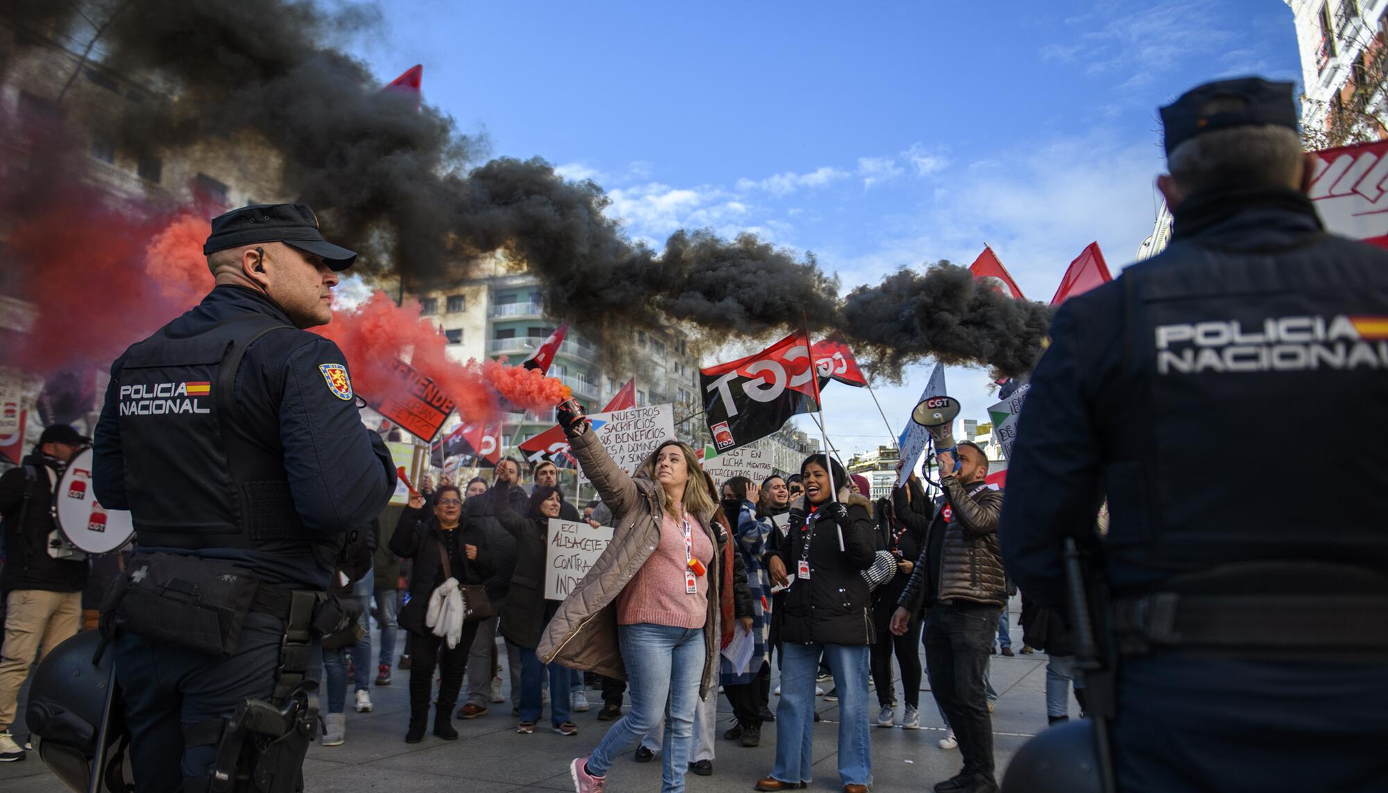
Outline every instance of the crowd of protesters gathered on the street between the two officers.
{"type": "MultiPolygon", "coordinates": [[[[715,482],[694,449],[676,439],[627,474],[582,416],[572,417],[568,434],[598,494],[582,512],[565,499],[552,463],[529,471],[527,485],[522,464],[502,459],[491,481],[426,482],[398,517],[348,537],[332,593],[359,602],[362,616],[322,642],[323,744],[346,743],[350,707],[371,711],[371,685],[391,685],[396,671],[408,672],[405,742],[425,740],[430,708],[432,733],[455,740],[454,718],[483,718],[507,702],[507,668],[511,717],[522,735],[533,733],[547,710],[555,733],[577,736],[575,714],[589,710],[587,689],[601,689],[597,718],[613,724],[572,764],[580,793],[602,790],[616,757],[633,746],[637,761],[662,758],[662,790],[683,790],[686,774],[713,772],[719,735],[751,749],[772,738],[768,725],[775,750],[755,787],[799,789],[811,782],[820,683],[831,679],[826,700],[838,702],[840,782],[858,793],[873,779],[872,725],[920,729],[929,674],[949,729],[938,743],[958,746],[963,760],[959,775],[937,790],[997,789],[988,664],[995,639],[1010,654],[1005,625],[1015,589],[997,538],[1002,494],[984,484],[988,460],[980,448],[959,445],[958,471],[938,482],[938,495],[911,476],[873,502],[867,482],[826,455],[806,458],[790,477],[715,482]],[[544,598],[551,518],[613,528],[608,549],[562,602],[544,598]],[[468,609],[486,600],[486,613],[447,631],[436,611],[455,591],[468,609]],[[722,653],[737,632],[752,643],[740,668],[722,653]],[[722,732],[719,693],[733,711],[722,732]]],[[[61,470],[83,441],[56,428],[26,462],[61,470]]],[[[938,463],[955,467],[948,455],[938,463]]],[[[29,664],[79,629],[75,599],[87,567],[35,553],[53,531],[51,516],[21,509],[29,488],[47,500],[47,478],[35,484],[18,467],[0,480],[10,549],[0,574],[8,606],[0,726],[15,718],[29,664]]],[[[1023,600],[1022,624],[1022,652],[1049,653],[1049,721],[1067,718],[1072,685],[1083,713],[1065,614],[1023,600]]],[[[0,761],[24,753],[0,731],[0,761]]]]}

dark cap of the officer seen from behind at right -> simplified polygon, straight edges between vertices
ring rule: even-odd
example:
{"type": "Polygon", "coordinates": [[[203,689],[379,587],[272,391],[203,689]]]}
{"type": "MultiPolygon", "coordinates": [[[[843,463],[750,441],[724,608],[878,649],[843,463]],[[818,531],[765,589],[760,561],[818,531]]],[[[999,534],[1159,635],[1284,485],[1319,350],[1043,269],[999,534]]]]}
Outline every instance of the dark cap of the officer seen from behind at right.
{"type": "Polygon", "coordinates": [[[1167,157],[1177,146],[1206,132],[1251,125],[1277,125],[1296,132],[1296,86],[1262,78],[1214,80],[1195,86],[1162,108],[1167,157]],[[1219,103],[1214,112],[1201,112],[1212,100],[1235,101],[1219,103]]]}

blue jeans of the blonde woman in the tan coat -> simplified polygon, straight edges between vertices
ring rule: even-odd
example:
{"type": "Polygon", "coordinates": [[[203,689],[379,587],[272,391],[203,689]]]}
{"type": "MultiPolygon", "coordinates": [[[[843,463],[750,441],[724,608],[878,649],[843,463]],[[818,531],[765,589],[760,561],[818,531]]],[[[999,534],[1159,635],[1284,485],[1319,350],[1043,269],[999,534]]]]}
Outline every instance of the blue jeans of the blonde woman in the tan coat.
{"type": "MultiPolygon", "coordinates": [[[[661,792],[684,790],[694,743],[694,708],[704,677],[704,629],[672,625],[618,625],[632,710],[608,728],[589,756],[589,772],[604,776],[612,760],[651,731],[669,703],[662,744],[661,792]]],[[[562,677],[562,675],[561,675],[562,677]]],[[[550,675],[554,679],[554,675],[550,675]]],[[[813,681],[813,675],[811,675],[813,681]]],[[[811,689],[813,695],[813,689],[811,689]]],[[[713,692],[709,692],[713,696],[713,692]]],[[[865,721],[863,725],[867,722],[865,721]]]]}

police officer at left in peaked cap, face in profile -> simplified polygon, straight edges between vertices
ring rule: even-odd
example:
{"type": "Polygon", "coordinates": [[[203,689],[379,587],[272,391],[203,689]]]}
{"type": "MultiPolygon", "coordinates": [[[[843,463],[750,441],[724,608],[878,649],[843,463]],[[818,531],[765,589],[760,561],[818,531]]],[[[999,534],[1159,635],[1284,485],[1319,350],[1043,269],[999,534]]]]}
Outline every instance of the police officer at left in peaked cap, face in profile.
{"type": "MultiPolygon", "coordinates": [[[[304,681],[343,537],[394,484],[346,358],[305,330],[330,322],[337,273],[357,255],[325,241],[304,204],[214,218],[203,252],[215,287],[117,359],[96,430],[97,498],[130,510],[136,530],[126,588],[103,620],[114,611],[119,628],[142,793],[198,793],[212,769],[226,789],[239,753],[223,740],[228,717],[244,699],[279,707],[304,681]]],[[[276,785],[300,774],[307,743],[297,736],[291,769],[266,769],[276,785]]]]}

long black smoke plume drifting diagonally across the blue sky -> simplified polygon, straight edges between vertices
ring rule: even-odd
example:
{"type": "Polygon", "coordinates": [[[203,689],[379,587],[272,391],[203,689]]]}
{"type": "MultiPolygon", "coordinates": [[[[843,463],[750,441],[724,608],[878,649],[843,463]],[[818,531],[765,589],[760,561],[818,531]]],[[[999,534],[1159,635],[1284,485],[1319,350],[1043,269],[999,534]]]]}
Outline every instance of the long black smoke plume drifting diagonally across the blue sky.
{"type": "Polygon", "coordinates": [[[89,19],[107,65],[165,85],[160,98],[126,103],[128,140],[151,150],[219,146],[240,159],[273,152],[266,162],[283,164],[283,194],[318,209],[329,238],[362,251],[361,268],[398,273],[408,288],[455,280],[507,251],[540,279],[551,316],[609,352],[633,330],[670,322],[723,340],[808,319],[812,330],[866,344],[887,376],[920,356],[1016,374],[1044,333],[1044,309],[1009,308],[972,290],[967,273],[902,272],[843,304],[837,279],[813,256],[751,234],[677,232],[662,251],[633,244],[604,214],[597,184],[566,182],[543,159],[469,171],[484,140],[436,108],[416,111],[412,96],[380,92],[364,64],[332,46],[373,28],[371,6],[11,0],[0,18],[33,32],[89,19]]]}

